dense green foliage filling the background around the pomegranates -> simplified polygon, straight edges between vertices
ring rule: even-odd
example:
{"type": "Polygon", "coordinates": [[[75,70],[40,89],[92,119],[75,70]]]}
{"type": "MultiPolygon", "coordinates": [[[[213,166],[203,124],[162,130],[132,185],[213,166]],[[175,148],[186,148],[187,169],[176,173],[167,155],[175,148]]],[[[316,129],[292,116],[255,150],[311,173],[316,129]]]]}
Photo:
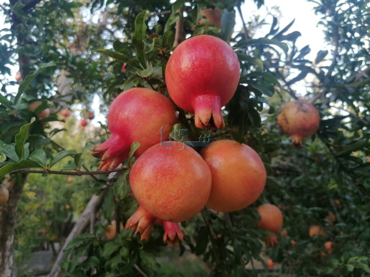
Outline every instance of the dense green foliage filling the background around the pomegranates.
{"type": "MultiPolygon", "coordinates": [[[[327,48],[310,61],[305,58],[309,45],[296,47],[301,34],[294,21],[279,26],[273,17],[263,37],[252,35],[262,21],[266,23],[258,16],[237,30],[235,17],[240,16],[243,2],[22,4],[11,0],[2,6],[11,29],[1,30],[0,178],[11,172],[28,178],[15,229],[19,263],[44,241],[63,242],[72,228],[65,225],[77,220],[90,196],[106,193],[94,228],[87,228],[68,244],[64,276],[204,276],[205,271],[209,276],[261,277],[370,273],[370,5],[364,0],[311,1],[315,13],[322,16],[318,24],[325,30],[327,48]],[[198,23],[200,11],[209,7],[222,10],[222,27],[209,25],[207,20],[198,23]],[[178,24],[181,20],[183,26],[178,24]],[[141,241],[131,230],[106,239],[104,229],[111,220],[125,224],[138,206],[127,171],[114,176],[74,176],[72,183],[67,182],[67,175],[52,171],[97,170],[100,160],[88,150],[109,137],[104,123],[94,128],[88,128],[89,124],[80,131],[76,119],[61,119],[61,109],[71,107],[73,116],[82,118],[98,96],[101,113],[107,114],[112,100],[133,87],[168,96],[164,72],[174,43],[179,42],[177,36],[201,34],[229,42],[239,58],[240,83],[223,109],[225,129],[198,129],[192,114],[178,107],[179,123],[174,128],[188,129],[187,141],[211,133],[211,140],[227,138],[248,144],[262,158],[268,177],[262,196],[249,207],[231,213],[204,208],[181,223],[185,238],[170,255],[184,256],[184,263],[194,257],[202,262],[192,261],[178,272],[156,259],[168,255],[161,225],[154,226],[149,241],[141,241]],[[7,79],[14,64],[20,66],[23,79],[17,93],[9,90],[15,82],[7,79]],[[306,93],[298,95],[295,85],[303,82],[306,93]],[[298,97],[312,103],[321,120],[319,130],[303,141],[302,148],[292,148],[276,117],[284,103],[298,97]],[[34,99],[43,103],[31,112],[27,107],[34,99]],[[50,116],[38,119],[47,107],[50,116]],[[47,176],[14,173],[29,168],[47,176]],[[281,209],[287,231],[287,235],[277,233],[275,248],[265,247],[269,233],[256,227],[256,207],[266,202],[281,209]],[[327,236],[310,237],[312,225],[321,226],[327,236]],[[45,229],[48,233],[40,237],[37,232],[45,229]],[[333,243],[332,253],[325,249],[326,241],[333,243]],[[86,259],[81,262],[80,257],[86,259]],[[277,270],[268,270],[267,257],[279,264],[277,270]]],[[[263,1],[256,4],[260,7],[263,1]]],[[[254,4],[245,1],[243,7],[249,5],[254,4]]],[[[201,149],[195,147],[198,152],[201,149]]],[[[133,164],[135,158],[130,154],[133,164]]],[[[122,167],[129,168],[127,160],[122,167]]]]}

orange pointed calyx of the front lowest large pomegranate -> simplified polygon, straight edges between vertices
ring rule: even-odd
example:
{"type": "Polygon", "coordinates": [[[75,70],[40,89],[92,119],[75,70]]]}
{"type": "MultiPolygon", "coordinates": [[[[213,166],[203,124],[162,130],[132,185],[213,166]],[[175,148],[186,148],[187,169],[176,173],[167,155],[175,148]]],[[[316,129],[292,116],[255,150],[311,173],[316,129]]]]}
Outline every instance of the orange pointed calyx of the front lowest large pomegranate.
{"type": "Polygon", "coordinates": [[[150,231],[157,218],[139,206],[137,211],[127,220],[125,229],[135,230],[135,235],[141,233],[141,240],[149,240],[150,231]]]}

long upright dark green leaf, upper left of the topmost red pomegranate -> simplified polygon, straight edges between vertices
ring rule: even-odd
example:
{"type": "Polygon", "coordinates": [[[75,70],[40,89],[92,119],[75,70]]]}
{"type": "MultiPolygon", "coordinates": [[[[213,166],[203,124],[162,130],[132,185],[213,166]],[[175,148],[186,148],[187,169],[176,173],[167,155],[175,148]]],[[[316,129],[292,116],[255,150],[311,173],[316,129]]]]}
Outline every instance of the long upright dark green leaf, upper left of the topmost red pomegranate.
{"type": "Polygon", "coordinates": [[[138,14],[135,19],[135,32],[132,35],[132,44],[134,44],[135,47],[135,54],[143,68],[147,67],[147,59],[145,58],[144,52],[145,31],[147,30],[145,19],[145,14],[138,14]]]}

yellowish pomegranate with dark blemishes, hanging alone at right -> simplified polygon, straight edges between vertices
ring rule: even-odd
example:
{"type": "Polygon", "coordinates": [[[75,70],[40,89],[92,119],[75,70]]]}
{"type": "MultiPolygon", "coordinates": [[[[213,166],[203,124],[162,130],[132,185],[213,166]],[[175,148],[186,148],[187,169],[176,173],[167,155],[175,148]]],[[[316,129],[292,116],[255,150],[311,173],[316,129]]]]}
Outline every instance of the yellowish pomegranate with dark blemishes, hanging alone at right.
{"type": "Polygon", "coordinates": [[[302,100],[286,103],[277,116],[277,125],[292,138],[295,147],[302,147],[303,138],[316,133],[319,124],[319,112],[302,100]]]}

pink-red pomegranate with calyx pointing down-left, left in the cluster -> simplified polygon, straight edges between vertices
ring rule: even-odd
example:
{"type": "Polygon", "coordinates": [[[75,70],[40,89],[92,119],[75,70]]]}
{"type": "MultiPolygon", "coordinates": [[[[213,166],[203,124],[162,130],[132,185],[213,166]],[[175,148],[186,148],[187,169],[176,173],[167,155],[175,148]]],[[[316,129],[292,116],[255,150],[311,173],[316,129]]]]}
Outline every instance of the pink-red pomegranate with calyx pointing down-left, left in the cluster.
{"type": "Polygon", "coordinates": [[[112,169],[128,156],[135,141],[140,147],[134,156],[139,157],[149,147],[161,141],[161,128],[168,137],[177,116],[171,100],[146,88],[132,88],[118,95],[108,112],[111,137],[92,148],[94,157],[101,158],[99,170],[112,169]]]}

